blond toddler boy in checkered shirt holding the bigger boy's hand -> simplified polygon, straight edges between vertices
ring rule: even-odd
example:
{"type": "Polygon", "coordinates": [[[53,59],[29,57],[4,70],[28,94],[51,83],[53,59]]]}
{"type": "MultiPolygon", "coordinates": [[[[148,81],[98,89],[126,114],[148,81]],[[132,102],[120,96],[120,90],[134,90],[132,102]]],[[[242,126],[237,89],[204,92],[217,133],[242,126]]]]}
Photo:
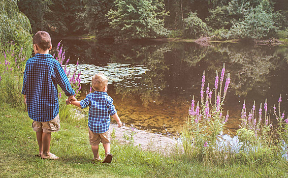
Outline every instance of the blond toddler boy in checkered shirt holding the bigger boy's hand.
{"type": "Polygon", "coordinates": [[[88,112],[88,127],[89,127],[89,140],[94,155],[92,163],[102,161],[99,156],[99,143],[103,143],[105,150],[105,158],[103,163],[111,163],[112,155],[110,154],[110,115],[118,123],[118,127],[122,126],[122,122],[118,117],[115,106],[113,105],[113,99],[108,96],[108,79],[102,74],[96,74],[92,78],[92,87],[95,90],[94,93],[90,93],[85,99],[79,101],[66,101],[67,104],[73,104],[80,108],[89,106],[88,112]]]}

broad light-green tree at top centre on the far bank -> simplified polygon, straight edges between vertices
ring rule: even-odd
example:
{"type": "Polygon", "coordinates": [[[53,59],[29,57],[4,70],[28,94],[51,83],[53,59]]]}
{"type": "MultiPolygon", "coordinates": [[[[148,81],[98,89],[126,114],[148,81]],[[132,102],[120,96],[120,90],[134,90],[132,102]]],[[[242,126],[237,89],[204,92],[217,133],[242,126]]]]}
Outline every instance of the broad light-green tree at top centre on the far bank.
{"type": "Polygon", "coordinates": [[[116,0],[116,10],[107,14],[115,35],[121,39],[156,38],[167,35],[162,0],[116,0]]]}

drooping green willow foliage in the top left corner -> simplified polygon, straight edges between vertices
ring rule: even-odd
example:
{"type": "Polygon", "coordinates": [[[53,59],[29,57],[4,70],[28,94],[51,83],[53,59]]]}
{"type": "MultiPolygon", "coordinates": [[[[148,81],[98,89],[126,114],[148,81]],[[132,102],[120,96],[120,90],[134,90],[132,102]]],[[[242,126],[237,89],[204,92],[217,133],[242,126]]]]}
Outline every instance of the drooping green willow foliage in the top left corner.
{"type": "Polygon", "coordinates": [[[16,2],[4,0],[0,1],[0,42],[2,44],[11,41],[30,50],[31,26],[28,18],[19,12],[16,2]]]}

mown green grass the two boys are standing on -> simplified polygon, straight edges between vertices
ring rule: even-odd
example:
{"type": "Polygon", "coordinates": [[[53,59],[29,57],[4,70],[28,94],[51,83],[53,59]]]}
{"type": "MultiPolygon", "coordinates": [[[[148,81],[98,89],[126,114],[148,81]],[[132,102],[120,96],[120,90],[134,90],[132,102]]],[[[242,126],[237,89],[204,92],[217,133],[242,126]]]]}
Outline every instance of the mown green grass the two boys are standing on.
{"type": "MultiPolygon", "coordinates": [[[[87,127],[61,121],[52,133],[51,152],[59,160],[42,160],[27,113],[0,107],[0,177],[288,177],[285,161],[269,165],[207,165],[175,153],[165,157],[113,141],[111,164],[91,164],[87,127]]],[[[117,130],[116,130],[117,134],[117,130]]],[[[100,155],[104,157],[103,146],[100,155]]]]}

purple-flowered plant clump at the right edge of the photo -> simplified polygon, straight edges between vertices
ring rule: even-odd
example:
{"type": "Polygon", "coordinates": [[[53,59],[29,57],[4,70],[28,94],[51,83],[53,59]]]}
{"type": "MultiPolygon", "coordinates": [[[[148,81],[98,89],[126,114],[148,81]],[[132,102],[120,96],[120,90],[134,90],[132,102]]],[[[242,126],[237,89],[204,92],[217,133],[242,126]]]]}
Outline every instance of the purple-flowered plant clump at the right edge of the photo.
{"type": "Polygon", "coordinates": [[[237,135],[242,144],[240,151],[254,157],[254,160],[275,159],[278,156],[285,156],[287,159],[288,142],[288,118],[285,112],[281,111],[280,105],[282,97],[278,100],[278,108],[274,105],[273,110],[268,110],[267,99],[264,107],[260,103],[259,109],[255,102],[249,113],[246,112],[245,101],[241,112],[241,125],[237,135]],[[264,110],[263,110],[264,109],[264,110]],[[270,121],[270,117],[275,118],[275,122],[270,121]]]}

